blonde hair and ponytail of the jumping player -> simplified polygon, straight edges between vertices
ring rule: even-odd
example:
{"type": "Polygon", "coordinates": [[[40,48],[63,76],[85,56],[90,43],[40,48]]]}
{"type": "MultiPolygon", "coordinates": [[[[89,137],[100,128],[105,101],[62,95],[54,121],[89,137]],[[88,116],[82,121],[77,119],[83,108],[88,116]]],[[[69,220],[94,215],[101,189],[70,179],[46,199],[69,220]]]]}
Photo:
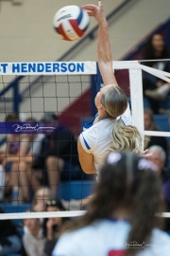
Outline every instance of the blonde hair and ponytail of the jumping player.
{"type": "MultiPolygon", "coordinates": [[[[112,86],[102,95],[101,104],[107,117],[116,119],[127,109],[127,96],[119,86],[112,86]]],[[[142,137],[135,126],[126,126],[122,119],[115,120],[112,130],[112,151],[142,152],[142,137]]]]}

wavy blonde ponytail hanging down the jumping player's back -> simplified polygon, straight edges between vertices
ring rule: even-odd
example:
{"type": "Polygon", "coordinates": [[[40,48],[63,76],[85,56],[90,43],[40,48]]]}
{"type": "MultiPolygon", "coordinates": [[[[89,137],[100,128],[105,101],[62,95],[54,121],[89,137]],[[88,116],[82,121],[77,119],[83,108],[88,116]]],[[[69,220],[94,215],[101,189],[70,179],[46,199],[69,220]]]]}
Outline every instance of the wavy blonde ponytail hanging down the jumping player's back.
{"type": "Polygon", "coordinates": [[[136,154],[142,152],[142,137],[135,126],[126,126],[122,119],[115,120],[111,130],[112,147],[115,152],[131,151],[136,154]]]}

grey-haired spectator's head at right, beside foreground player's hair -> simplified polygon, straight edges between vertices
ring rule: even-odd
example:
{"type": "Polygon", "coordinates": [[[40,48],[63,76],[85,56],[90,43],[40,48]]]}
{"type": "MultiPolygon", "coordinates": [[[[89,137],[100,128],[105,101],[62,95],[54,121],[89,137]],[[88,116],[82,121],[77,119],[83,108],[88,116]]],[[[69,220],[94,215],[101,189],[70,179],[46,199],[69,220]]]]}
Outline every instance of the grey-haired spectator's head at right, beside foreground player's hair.
{"type": "Polygon", "coordinates": [[[149,160],[158,167],[158,171],[161,173],[163,167],[165,166],[166,153],[161,146],[157,145],[151,146],[148,148],[148,151],[149,153],[153,153],[153,155],[149,156],[149,160]]]}

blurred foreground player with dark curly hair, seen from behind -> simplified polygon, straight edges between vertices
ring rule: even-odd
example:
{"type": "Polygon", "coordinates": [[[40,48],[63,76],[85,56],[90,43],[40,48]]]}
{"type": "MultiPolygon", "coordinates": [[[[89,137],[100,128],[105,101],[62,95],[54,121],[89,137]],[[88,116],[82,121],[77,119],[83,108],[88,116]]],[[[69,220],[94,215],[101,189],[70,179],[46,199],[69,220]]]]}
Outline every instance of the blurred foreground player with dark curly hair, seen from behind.
{"type": "Polygon", "coordinates": [[[131,152],[111,152],[85,215],[64,229],[53,256],[168,256],[161,231],[161,182],[156,166],[131,152]]]}

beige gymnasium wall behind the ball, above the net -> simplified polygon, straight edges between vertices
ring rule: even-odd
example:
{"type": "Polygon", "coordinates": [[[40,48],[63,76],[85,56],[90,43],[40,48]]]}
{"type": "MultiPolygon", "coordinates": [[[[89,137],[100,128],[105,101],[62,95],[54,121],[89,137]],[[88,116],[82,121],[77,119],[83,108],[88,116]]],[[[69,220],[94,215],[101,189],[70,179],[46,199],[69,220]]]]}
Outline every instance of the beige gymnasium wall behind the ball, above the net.
{"type": "MultiPolygon", "coordinates": [[[[102,0],[105,13],[119,6],[123,0],[102,0]]],[[[1,0],[0,8],[0,62],[56,61],[76,42],[61,41],[52,27],[55,12],[66,5],[96,4],[96,0],[23,0],[12,5],[1,0]]],[[[119,60],[154,27],[169,18],[169,0],[134,0],[110,24],[110,39],[114,60],[119,60]]],[[[92,27],[96,22],[91,19],[92,27]]],[[[96,41],[73,56],[76,61],[96,60],[96,41]]],[[[69,61],[69,60],[68,60],[69,61]]]]}

